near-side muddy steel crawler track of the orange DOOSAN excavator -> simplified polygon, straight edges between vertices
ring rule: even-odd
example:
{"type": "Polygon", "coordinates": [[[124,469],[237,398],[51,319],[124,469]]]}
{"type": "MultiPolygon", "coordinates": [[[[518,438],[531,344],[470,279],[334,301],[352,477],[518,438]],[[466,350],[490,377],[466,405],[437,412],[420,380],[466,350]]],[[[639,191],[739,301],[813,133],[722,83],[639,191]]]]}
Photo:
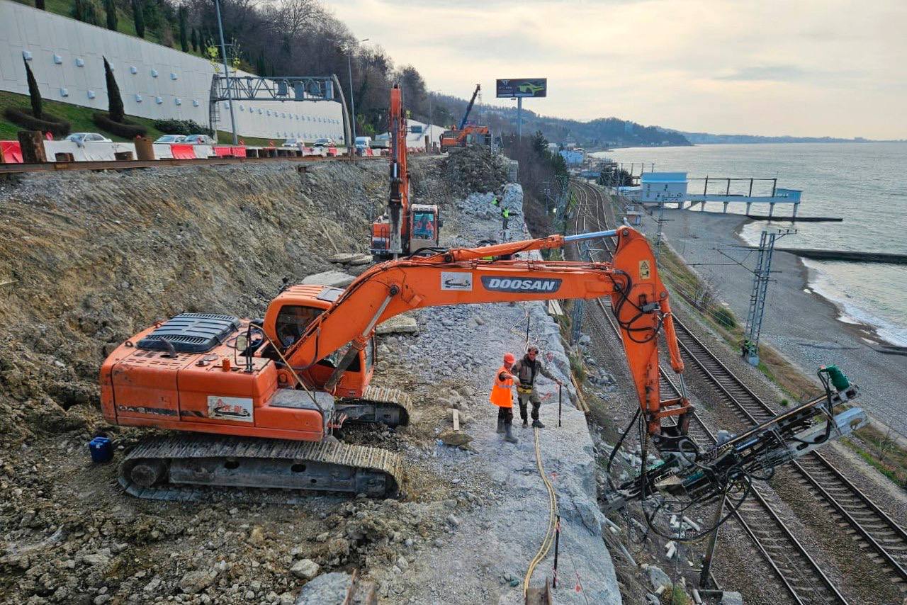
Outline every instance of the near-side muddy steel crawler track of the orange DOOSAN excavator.
{"type": "Polygon", "coordinates": [[[393,497],[404,479],[401,458],[376,447],[196,434],[142,441],[119,475],[137,498],[243,500],[236,488],[252,488],[249,499],[270,503],[301,503],[316,492],[393,497]]]}

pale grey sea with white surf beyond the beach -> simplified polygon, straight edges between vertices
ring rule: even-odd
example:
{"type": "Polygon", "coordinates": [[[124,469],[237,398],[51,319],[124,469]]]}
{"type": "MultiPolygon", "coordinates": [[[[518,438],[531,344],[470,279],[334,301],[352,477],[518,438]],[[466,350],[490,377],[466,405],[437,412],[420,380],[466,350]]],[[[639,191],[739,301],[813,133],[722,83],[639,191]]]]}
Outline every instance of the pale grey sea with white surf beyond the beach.
{"type": "MultiPolygon", "coordinates": [[[[723,193],[720,178],[777,179],[777,186],[803,190],[799,216],[840,217],[844,222],[766,222],[746,225],[741,237],[758,244],[762,229],[797,229],[777,240],[778,247],[870,250],[907,254],[907,143],[766,143],[696,145],[693,147],[626,148],[593,155],[623,162],[639,174],[645,171],[687,172],[688,178],[710,179],[708,192],[723,193]]],[[[701,190],[692,181],[688,190],[701,190]]],[[[757,181],[754,195],[767,195],[770,181],[757,181]]],[[[746,193],[748,181],[732,183],[731,192],[746,193]]],[[[720,203],[706,210],[721,211],[720,203]]],[[[698,209],[698,205],[697,205],[698,209]]],[[[696,211],[696,210],[694,210],[696,211]]],[[[744,214],[745,204],[730,204],[728,212],[744,214]]],[[[754,214],[768,207],[754,204],[754,214]]],[[[775,215],[789,207],[775,206],[775,215]]],[[[839,319],[868,324],[879,337],[907,346],[907,265],[819,261],[804,259],[809,288],[832,301],[839,319]]]]}

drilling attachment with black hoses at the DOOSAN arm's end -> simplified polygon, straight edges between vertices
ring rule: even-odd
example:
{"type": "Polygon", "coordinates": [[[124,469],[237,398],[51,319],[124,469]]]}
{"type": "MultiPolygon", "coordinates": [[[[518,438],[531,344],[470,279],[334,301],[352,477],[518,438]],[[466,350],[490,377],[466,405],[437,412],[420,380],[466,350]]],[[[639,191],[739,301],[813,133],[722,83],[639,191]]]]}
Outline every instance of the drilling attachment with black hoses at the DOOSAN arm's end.
{"type": "Polygon", "coordinates": [[[843,405],[858,395],[855,385],[834,366],[823,367],[819,377],[825,385],[824,396],[741,434],[719,431],[718,443],[709,449],[682,439],[674,451],[662,451],[661,460],[620,484],[619,495],[624,501],[656,496],[705,503],[727,493],[747,493],[754,479],[766,481],[781,464],[867,424],[862,408],[843,405]],[[841,409],[835,413],[835,407],[841,409]]]}

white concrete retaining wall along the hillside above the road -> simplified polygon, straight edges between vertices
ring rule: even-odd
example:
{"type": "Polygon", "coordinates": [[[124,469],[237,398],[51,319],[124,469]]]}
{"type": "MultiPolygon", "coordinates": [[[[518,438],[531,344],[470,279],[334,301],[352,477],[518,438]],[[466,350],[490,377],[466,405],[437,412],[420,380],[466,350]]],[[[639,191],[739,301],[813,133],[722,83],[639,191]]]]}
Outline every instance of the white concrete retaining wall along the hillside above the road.
{"type": "MultiPolygon", "coordinates": [[[[127,114],[208,125],[211,78],[216,68],[200,57],[0,0],[0,90],[28,93],[24,53],[31,55],[29,64],[44,99],[106,111],[105,56],[113,67],[127,114]]],[[[273,138],[278,143],[278,139],[290,137],[314,141],[327,136],[343,141],[338,102],[236,104],[240,135],[273,138]]],[[[218,128],[229,131],[227,102],[220,105],[218,128]]]]}

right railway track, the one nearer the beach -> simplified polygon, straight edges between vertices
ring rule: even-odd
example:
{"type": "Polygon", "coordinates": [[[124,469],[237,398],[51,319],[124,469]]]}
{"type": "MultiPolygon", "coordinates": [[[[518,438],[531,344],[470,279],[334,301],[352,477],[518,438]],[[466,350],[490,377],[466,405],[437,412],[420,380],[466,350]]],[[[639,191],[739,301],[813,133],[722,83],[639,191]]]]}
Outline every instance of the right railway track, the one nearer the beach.
{"type": "MultiPolygon", "coordinates": [[[[607,225],[602,214],[604,200],[601,192],[584,183],[576,183],[576,186],[581,191],[580,205],[584,202],[586,210],[592,210],[597,229],[607,225]]],[[[577,216],[580,214],[584,213],[578,211],[577,216]]],[[[605,249],[610,250],[612,242],[604,243],[605,249]]],[[[775,410],[725,366],[676,316],[674,325],[684,362],[714,386],[721,403],[732,410],[742,424],[750,426],[775,416],[775,410]]],[[[823,454],[808,454],[790,464],[790,468],[795,481],[825,509],[833,527],[836,525],[848,534],[876,565],[883,568],[896,590],[902,594],[907,591],[907,531],[823,454]]]]}

